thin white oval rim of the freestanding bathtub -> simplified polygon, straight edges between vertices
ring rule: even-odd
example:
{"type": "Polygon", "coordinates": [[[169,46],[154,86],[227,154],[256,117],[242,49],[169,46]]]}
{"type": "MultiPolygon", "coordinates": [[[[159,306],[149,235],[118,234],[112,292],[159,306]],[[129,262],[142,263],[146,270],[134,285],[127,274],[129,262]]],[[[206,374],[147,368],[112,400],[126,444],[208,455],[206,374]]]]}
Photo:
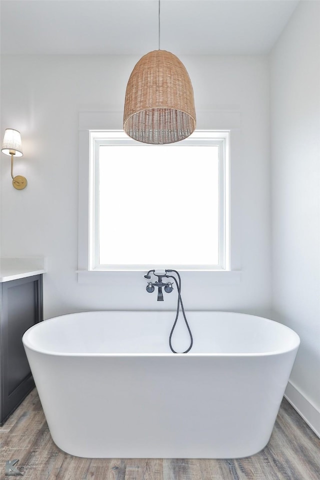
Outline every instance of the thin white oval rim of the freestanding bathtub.
{"type": "MultiPolygon", "coordinates": [[[[292,330],[292,328],[284,325],[283,323],[280,323],[276,320],[271,320],[270,318],[265,318],[263,316],[258,316],[258,315],[253,315],[253,314],[250,314],[250,313],[242,313],[242,312],[235,312],[235,311],[222,311],[222,310],[188,310],[188,311],[192,311],[192,312],[205,312],[205,313],[236,313],[237,315],[244,315],[244,316],[254,316],[255,318],[260,318],[262,319],[263,321],[267,321],[267,322],[271,322],[271,323],[276,323],[277,325],[280,325],[280,327],[283,327],[284,329],[288,330],[290,335],[293,334],[293,336],[295,337],[295,344],[290,347],[290,348],[286,348],[286,349],[277,349],[277,350],[272,350],[272,351],[264,351],[264,352],[239,352],[239,353],[232,353],[232,352],[228,352],[228,353],[208,353],[208,352],[204,352],[204,353],[192,353],[192,352],[188,352],[187,354],[186,353],[173,353],[173,352],[166,352],[166,353],[117,353],[117,352],[113,352],[113,353],[108,353],[108,352],[99,352],[99,353],[95,353],[95,352],[90,352],[90,353],[86,353],[86,352],[56,352],[56,351],[52,351],[52,350],[45,350],[45,349],[39,349],[39,348],[35,348],[34,346],[30,346],[28,344],[28,336],[30,335],[30,332],[38,327],[40,324],[43,324],[43,322],[47,322],[47,321],[50,321],[50,320],[55,320],[56,318],[60,318],[60,317],[63,317],[63,316],[73,316],[73,315],[81,315],[81,314],[85,314],[85,313],[101,313],[101,312],[106,312],[106,313],[113,313],[113,312],[118,312],[118,313],[129,313],[130,311],[134,311],[134,312],[143,312],[143,313],[154,313],[154,312],[165,312],[165,311],[173,311],[173,310],[87,310],[87,311],[78,311],[78,312],[72,312],[72,313],[63,313],[62,315],[56,315],[56,316],[53,316],[53,317],[50,317],[50,318],[47,318],[45,320],[43,320],[42,322],[39,322],[39,323],[35,323],[34,325],[32,325],[30,328],[28,328],[22,335],[22,343],[23,343],[23,346],[25,348],[28,348],[29,350],[32,350],[32,351],[35,351],[37,353],[43,353],[45,355],[51,355],[51,356],[62,356],[62,357],[172,357],[172,356],[175,356],[175,357],[184,357],[184,358],[187,358],[187,357],[203,357],[203,356],[210,356],[210,357],[256,357],[256,356],[272,356],[272,355],[279,355],[279,354],[284,354],[284,353],[289,353],[291,351],[294,351],[296,350],[299,345],[300,345],[300,337],[299,335],[294,331],[292,330]]],[[[188,313],[188,311],[186,311],[186,315],[188,313]]]]}

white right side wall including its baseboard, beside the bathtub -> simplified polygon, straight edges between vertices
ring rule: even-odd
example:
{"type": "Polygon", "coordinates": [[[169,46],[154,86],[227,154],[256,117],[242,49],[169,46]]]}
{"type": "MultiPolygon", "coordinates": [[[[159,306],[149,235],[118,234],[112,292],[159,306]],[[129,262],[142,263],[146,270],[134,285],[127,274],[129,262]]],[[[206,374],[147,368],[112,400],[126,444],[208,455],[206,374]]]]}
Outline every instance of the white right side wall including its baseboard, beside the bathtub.
{"type": "Polygon", "coordinates": [[[273,318],[301,338],[288,397],[318,432],[319,13],[301,1],[270,55],[273,318]]]}

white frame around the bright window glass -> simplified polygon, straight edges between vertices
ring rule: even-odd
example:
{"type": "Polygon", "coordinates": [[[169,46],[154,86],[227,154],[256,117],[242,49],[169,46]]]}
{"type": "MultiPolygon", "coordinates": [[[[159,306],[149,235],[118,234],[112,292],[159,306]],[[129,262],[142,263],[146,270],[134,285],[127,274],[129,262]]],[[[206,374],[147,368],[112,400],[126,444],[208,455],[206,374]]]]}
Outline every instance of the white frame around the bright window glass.
{"type": "MultiPolygon", "coordinates": [[[[98,263],[98,151],[100,145],[137,144],[123,130],[88,130],[79,141],[79,154],[87,152],[89,178],[83,178],[79,165],[79,249],[78,271],[128,271],[153,267],[175,267],[179,270],[228,271],[230,269],[230,205],[229,205],[229,130],[195,130],[188,138],[172,144],[218,146],[219,174],[219,262],[217,265],[102,265],[98,263]],[[81,186],[82,185],[82,186],[81,186]],[[82,196],[83,195],[83,196],[82,196]],[[86,197],[86,198],[85,198],[86,197]],[[83,205],[81,207],[81,205],[83,205]],[[85,215],[87,212],[87,215],[85,215]],[[86,218],[84,218],[86,216],[86,218]]],[[[141,143],[138,143],[141,145],[141,143]]]]}

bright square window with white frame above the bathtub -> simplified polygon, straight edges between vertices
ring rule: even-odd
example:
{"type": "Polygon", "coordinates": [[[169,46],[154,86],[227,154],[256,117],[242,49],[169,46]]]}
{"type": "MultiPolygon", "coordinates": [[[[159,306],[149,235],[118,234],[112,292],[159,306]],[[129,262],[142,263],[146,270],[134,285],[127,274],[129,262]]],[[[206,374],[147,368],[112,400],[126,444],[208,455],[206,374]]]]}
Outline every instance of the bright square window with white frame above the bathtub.
{"type": "Polygon", "coordinates": [[[229,132],[90,130],[88,269],[229,269],[229,132]]]}

